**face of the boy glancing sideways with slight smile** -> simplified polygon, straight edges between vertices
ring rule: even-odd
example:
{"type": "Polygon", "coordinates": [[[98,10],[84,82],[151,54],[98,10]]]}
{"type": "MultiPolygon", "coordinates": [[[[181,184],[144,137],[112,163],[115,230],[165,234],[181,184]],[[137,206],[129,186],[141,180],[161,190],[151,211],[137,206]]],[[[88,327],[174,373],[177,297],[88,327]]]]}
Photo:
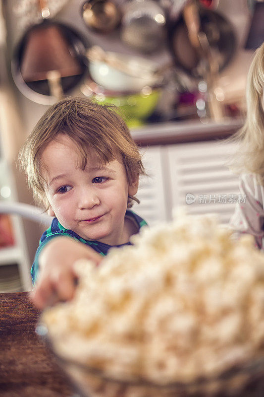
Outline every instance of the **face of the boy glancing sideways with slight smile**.
{"type": "Polygon", "coordinates": [[[137,193],[138,178],[129,186],[121,162],[114,160],[100,168],[91,154],[82,170],[75,144],[59,134],[44,149],[41,164],[49,213],[63,227],[85,240],[110,245],[127,242],[124,216],[128,195],[137,193]]]}

